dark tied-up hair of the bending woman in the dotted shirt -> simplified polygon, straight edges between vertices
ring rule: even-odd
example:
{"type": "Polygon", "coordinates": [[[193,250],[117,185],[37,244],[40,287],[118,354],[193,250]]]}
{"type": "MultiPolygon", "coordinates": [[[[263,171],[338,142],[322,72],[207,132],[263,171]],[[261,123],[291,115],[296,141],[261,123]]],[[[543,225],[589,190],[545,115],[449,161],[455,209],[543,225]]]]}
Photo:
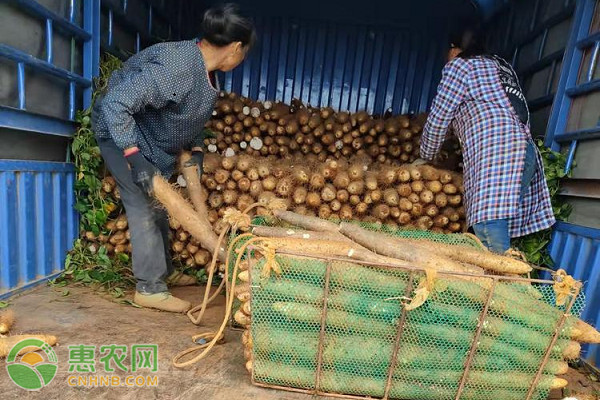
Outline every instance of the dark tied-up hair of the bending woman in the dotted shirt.
{"type": "Polygon", "coordinates": [[[202,37],[209,43],[223,47],[241,42],[252,46],[256,31],[252,21],[240,13],[237,4],[227,3],[209,8],[202,19],[202,37]]]}

